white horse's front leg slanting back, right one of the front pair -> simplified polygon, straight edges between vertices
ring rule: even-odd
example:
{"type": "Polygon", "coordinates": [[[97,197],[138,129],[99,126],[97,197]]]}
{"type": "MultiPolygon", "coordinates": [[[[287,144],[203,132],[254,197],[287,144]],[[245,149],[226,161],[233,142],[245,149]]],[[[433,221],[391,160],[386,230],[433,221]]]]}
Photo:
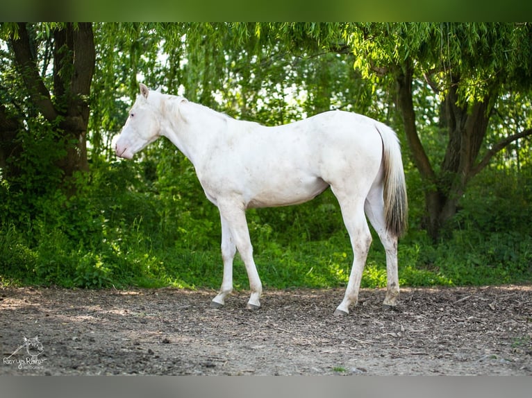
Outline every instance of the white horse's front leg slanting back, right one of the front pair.
{"type": "MultiPolygon", "coordinates": [[[[240,257],[246,266],[247,277],[249,278],[249,289],[251,290],[251,296],[249,297],[247,308],[258,309],[258,307],[260,307],[260,295],[263,293],[263,284],[260,282],[257,267],[255,266],[255,261],[253,261],[253,247],[251,246],[251,239],[249,238],[249,230],[247,227],[244,206],[238,202],[219,201],[218,208],[220,214],[222,215],[222,225],[225,225],[225,228],[228,230],[229,234],[231,235],[231,239],[234,242],[231,245],[233,251],[230,252],[231,264],[235,255],[234,246],[236,246],[236,249],[240,253],[240,257]]],[[[222,243],[222,251],[223,250],[222,243]]],[[[227,261],[227,264],[228,263],[229,261],[227,261]]],[[[226,277],[231,277],[232,279],[232,276],[232,266],[226,266],[226,259],[224,257],[224,282],[222,283],[222,288],[227,282],[226,277]],[[226,269],[229,269],[231,272],[231,274],[228,276],[226,275],[226,269]]]]}

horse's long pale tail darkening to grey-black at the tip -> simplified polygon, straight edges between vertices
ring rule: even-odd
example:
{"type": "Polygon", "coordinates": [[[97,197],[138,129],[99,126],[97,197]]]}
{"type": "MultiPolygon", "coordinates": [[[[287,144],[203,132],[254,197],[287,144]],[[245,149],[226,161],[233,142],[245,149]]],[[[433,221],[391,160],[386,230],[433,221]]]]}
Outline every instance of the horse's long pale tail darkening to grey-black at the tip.
{"type": "Polygon", "coordinates": [[[401,146],[394,130],[380,124],[377,131],[383,140],[384,216],[386,229],[395,236],[403,235],[408,227],[408,199],[401,146]]]}

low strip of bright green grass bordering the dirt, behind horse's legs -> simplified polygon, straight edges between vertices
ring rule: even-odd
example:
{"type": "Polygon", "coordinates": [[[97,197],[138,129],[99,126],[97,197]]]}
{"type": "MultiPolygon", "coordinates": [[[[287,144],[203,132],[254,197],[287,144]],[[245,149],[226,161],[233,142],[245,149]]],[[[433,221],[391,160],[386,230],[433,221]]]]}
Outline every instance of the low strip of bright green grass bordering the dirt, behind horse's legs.
{"type": "MultiPolygon", "coordinates": [[[[147,237],[129,232],[120,239],[100,241],[94,247],[73,245],[61,232],[38,236],[32,243],[15,227],[0,234],[0,283],[101,288],[140,286],[159,288],[219,288],[222,257],[218,245],[207,248],[181,247],[162,236],[147,237]]],[[[401,286],[463,286],[531,282],[530,242],[515,247],[519,261],[494,261],[492,254],[465,251],[451,243],[437,246],[400,243],[401,286]],[[528,257],[526,257],[528,256],[528,257]],[[490,262],[489,262],[490,261],[490,262]],[[528,262],[527,262],[528,261],[528,262]]],[[[347,285],[352,254],[342,233],[324,241],[272,240],[254,251],[265,288],[330,288],[347,285]]],[[[500,260],[500,259],[499,259],[500,260]]],[[[504,259],[503,259],[504,260],[504,259]]],[[[234,286],[247,290],[249,283],[240,257],[234,261],[234,286]]],[[[385,254],[377,241],[369,252],[363,273],[363,288],[386,284],[385,254]]]]}

